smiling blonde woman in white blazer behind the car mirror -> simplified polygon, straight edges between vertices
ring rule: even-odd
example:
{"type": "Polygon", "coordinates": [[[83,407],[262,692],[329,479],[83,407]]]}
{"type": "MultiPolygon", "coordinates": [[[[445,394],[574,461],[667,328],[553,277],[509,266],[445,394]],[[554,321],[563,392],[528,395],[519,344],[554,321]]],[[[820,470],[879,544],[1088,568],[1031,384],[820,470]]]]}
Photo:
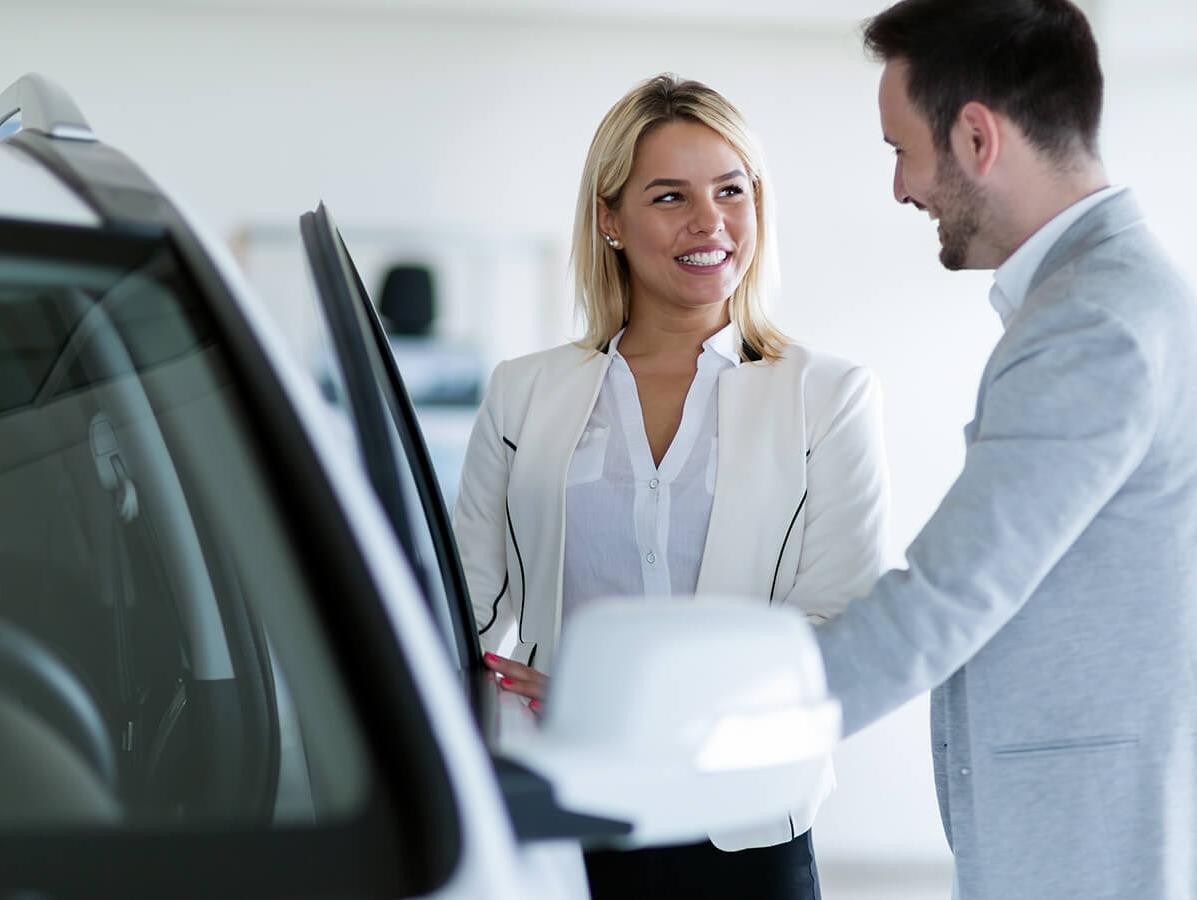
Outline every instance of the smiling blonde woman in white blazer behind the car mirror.
{"type": "MultiPolygon", "coordinates": [[[[743,118],[705,85],[660,75],[598,126],[573,233],[585,336],[496,369],[454,516],[488,664],[534,709],[594,598],[737,594],[824,621],[881,571],[877,389],[770,324],[768,209],[743,118]]],[[[828,765],[788,819],[589,853],[591,893],[818,898],[832,786],[828,765]]]]}

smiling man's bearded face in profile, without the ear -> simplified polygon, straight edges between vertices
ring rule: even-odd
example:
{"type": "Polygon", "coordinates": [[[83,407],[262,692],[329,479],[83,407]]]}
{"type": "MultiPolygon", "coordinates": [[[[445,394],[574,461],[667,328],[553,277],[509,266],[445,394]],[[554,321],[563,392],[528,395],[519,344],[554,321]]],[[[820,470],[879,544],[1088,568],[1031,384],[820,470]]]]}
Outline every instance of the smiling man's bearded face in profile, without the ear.
{"type": "Polygon", "coordinates": [[[980,190],[950,151],[940,152],[926,118],[906,95],[906,62],[892,60],[881,74],[881,130],[893,146],[894,199],[925,211],[940,223],[940,262],[948,269],[970,262],[985,212],[980,190]]]}

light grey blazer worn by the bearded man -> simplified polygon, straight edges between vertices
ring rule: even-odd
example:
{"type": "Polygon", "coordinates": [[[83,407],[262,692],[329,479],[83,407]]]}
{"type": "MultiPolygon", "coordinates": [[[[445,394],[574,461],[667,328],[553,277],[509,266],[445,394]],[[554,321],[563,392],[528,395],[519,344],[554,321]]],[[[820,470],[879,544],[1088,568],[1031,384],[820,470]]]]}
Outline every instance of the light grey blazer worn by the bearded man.
{"type": "Polygon", "coordinates": [[[1129,193],[1047,254],[965,439],[819,628],[845,729],[938,687],[962,900],[1197,895],[1197,304],[1129,193]]]}

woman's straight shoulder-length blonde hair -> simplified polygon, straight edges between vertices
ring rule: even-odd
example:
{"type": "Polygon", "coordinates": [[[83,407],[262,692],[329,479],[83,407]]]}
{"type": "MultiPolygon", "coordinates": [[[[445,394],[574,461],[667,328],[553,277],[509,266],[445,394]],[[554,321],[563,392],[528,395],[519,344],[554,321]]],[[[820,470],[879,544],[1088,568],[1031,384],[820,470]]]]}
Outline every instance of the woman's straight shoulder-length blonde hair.
{"type": "Polygon", "coordinates": [[[619,208],[640,139],[678,120],[705,124],[743,160],[757,207],[757,251],[731,294],[730,315],[757,355],[777,359],[786,338],[765,315],[765,300],[776,281],[772,196],[765,160],[740,110],[706,85],[674,74],[661,74],[633,87],[603,116],[590,142],[578,189],[571,254],[578,311],[587,329],[579,343],[603,349],[627,322],[631,302],[627,261],[598,233],[598,201],[610,209],[619,208]]]}

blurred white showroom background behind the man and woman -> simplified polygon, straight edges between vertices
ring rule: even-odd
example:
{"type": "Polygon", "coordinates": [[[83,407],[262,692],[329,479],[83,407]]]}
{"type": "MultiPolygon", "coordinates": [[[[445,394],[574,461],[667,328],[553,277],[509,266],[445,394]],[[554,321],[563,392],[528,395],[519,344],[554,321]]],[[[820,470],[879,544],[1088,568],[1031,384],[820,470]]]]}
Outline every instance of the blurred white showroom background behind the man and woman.
{"type": "MultiPolygon", "coordinates": [[[[0,81],[36,71],[61,83],[102,140],[230,244],[317,376],[297,219],[326,201],[376,303],[407,310],[390,316],[396,352],[450,499],[493,364],[577,334],[569,236],[598,120],[657,72],[711,84],[745,111],[772,169],[776,320],[870,366],[885,387],[900,565],[959,470],[960,430],[999,326],[989,274],[943,272],[934,225],[893,202],[879,68],[858,39],[861,19],[885,5],[0,2],[0,81]],[[452,364],[421,382],[430,352],[452,364]]],[[[1197,280],[1197,5],[1082,6],[1104,55],[1110,175],[1137,190],[1197,280]]],[[[837,756],[839,789],[815,827],[825,898],[946,898],[925,698],[837,756]]]]}

